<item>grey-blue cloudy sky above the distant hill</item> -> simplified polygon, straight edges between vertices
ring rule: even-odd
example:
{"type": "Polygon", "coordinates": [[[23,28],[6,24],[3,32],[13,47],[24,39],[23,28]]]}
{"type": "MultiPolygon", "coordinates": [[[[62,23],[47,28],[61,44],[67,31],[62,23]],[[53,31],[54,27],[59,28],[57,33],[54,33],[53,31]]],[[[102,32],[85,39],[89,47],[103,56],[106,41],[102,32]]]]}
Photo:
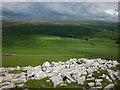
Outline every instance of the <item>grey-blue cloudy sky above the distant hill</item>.
{"type": "Polygon", "coordinates": [[[2,19],[118,21],[117,2],[3,2],[2,19]]]}

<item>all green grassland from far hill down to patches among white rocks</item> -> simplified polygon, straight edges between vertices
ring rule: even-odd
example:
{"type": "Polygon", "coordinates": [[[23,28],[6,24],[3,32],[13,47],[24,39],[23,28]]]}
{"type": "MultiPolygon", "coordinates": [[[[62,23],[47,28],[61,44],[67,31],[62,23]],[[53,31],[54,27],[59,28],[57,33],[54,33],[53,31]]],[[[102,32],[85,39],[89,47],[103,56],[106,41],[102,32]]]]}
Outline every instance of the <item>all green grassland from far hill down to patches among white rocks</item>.
{"type": "MultiPolygon", "coordinates": [[[[102,57],[119,61],[118,44],[116,43],[118,40],[117,23],[77,20],[4,20],[2,24],[3,67],[37,66],[42,65],[45,61],[65,62],[70,58],[102,57]]],[[[117,67],[112,69],[116,70],[117,67]]],[[[10,73],[20,72],[12,71],[10,73]]],[[[106,72],[103,71],[100,74],[102,73],[106,72]]],[[[95,75],[99,74],[95,72],[95,75]]],[[[53,83],[46,82],[47,79],[28,80],[24,88],[53,88],[53,83]]],[[[84,85],[76,83],[62,87],[58,85],[56,88],[89,88],[88,82],[90,81],[85,81],[84,85]]],[[[116,82],[119,83],[118,80],[116,82]]],[[[115,89],[118,89],[116,82],[113,83],[115,89]]],[[[109,82],[104,80],[102,84],[105,86],[109,82]]],[[[18,87],[16,88],[18,89],[18,87]]]]}

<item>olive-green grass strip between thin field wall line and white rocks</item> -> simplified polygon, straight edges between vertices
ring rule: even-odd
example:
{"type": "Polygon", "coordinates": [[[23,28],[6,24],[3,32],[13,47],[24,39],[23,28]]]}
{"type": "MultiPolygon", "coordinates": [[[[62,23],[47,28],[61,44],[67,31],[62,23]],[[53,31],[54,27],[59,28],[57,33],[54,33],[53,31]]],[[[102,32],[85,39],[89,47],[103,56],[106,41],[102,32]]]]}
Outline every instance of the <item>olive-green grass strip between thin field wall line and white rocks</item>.
{"type": "Polygon", "coordinates": [[[70,58],[89,58],[92,59],[92,57],[86,57],[86,56],[6,56],[3,55],[2,60],[2,66],[3,67],[25,67],[25,66],[38,66],[42,65],[45,61],[67,61],[70,58]]]}

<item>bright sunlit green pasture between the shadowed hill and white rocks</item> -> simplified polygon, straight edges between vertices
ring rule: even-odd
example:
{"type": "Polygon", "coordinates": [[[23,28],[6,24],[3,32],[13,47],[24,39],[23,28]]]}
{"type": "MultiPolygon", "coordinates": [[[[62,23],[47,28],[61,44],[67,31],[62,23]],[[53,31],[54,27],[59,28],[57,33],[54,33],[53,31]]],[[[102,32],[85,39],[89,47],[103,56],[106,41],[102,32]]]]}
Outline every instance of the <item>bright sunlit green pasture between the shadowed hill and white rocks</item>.
{"type": "MultiPolygon", "coordinates": [[[[10,38],[6,38],[10,39],[10,38]]],[[[11,39],[13,42],[14,39],[11,39]]],[[[10,41],[9,41],[10,42],[10,41]]],[[[45,61],[67,61],[70,58],[90,58],[100,56],[118,60],[118,45],[114,40],[92,38],[89,41],[54,36],[33,36],[31,39],[16,40],[12,46],[3,46],[3,54],[53,55],[53,56],[6,56],[3,55],[4,67],[36,66],[45,61]],[[81,55],[81,56],[54,56],[81,55]]]]}

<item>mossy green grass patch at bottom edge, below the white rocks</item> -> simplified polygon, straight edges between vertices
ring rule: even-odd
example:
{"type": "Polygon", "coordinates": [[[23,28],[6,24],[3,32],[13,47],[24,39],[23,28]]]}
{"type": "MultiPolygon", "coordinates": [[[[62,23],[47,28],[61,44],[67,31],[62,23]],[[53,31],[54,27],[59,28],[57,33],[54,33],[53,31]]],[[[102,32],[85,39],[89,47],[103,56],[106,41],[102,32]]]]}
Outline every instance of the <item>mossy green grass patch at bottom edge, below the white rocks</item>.
{"type": "MultiPolygon", "coordinates": [[[[77,83],[66,83],[67,86],[60,86],[57,85],[56,87],[53,86],[52,81],[50,80],[49,82],[46,82],[46,80],[49,80],[49,78],[44,78],[41,80],[28,80],[27,82],[24,83],[24,87],[22,88],[90,88],[88,86],[88,82],[85,81],[83,85],[77,84],[77,83]]],[[[19,87],[15,87],[19,88],[19,87]]]]}

